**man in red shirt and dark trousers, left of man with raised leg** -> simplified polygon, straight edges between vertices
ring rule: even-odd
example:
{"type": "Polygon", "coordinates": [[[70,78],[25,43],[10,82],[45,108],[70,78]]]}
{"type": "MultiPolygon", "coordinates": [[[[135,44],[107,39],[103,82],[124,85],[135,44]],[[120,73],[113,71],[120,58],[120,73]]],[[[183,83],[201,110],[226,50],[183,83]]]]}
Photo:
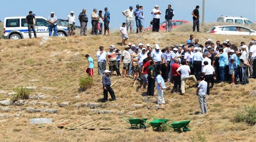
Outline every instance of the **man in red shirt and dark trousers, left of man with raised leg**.
{"type": "Polygon", "coordinates": [[[173,80],[174,80],[174,86],[173,86],[173,90],[171,91],[171,93],[173,92],[179,92],[180,91],[180,76],[177,74],[177,69],[180,67],[178,65],[179,63],[179,59],[174,59],[174,62],[171,66],[172,69],[172,76],[173,76],[173,80]]]}

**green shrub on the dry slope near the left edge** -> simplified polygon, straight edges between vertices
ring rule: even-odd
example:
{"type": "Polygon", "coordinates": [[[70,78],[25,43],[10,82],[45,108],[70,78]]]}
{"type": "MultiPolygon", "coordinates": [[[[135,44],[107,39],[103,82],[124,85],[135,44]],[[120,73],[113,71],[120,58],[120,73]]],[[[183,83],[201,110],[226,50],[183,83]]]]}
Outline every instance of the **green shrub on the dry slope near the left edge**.
{"type": "Polygon", "coordinates": [[[13,89],[15,94],[12,96],[12,101],[18,101],[19,99],[29,99],[30,91],[26,87],[15,87],[13,89]]]}

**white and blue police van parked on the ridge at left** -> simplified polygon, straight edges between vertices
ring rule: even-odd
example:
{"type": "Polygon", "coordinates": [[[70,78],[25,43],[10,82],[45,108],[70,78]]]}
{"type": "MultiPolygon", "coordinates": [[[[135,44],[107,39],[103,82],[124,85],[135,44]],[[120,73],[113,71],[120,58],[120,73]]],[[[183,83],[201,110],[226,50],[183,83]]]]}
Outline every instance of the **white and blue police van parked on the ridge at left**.
{"type": "MultiPolygon", "coordinates": [[[[49,22],[42,16],[36,16],[36,36],[49,37],[49,22]]],[[[68,28],[65,26],[58,27],[58,37],[67,37],[68,28]]],[[[33,29],[31,29],[33,34],[33,29]]],[[[54,32],[53,32],[54,35],[54,32]]],[[[28,36],[28,23],[26,23],[26,16],[5,17],[4,19],[4,39],[26,39],[28,36]]]]}

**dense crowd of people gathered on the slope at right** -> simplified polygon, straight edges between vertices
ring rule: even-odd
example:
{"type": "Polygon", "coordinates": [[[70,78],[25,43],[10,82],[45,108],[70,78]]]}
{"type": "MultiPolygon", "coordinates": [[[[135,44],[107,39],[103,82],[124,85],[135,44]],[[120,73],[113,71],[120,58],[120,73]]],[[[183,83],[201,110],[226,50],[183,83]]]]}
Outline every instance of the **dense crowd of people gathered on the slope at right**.
{"type": "MultiPolygon", "coordinates": [[[[228,39],[222,44],[220,41],[214,43],[207,39],[202,45],[198,39],[194,40],[193,35],[189,36],[186,44],[175,44],[162,49],[158,44],[152,48],[148,43],[139,43],[138,46],[128,43],[123,51],[114,45],[109,47],[109,51],[100,46],[97,58],[99,75],[107,72],[108,76],[131,77],[134,81],[137,79],[141,82],[141,90],[147,88],[149,96],[155,95],[156,84],[158,104],[165,104],[163,90],[166,82],[173,83],[170,93],[184,95],[186,81],[191,79],[194,86],[198,87],[201,108],[205,108],[205,95],[210,95],[215,83],[246,85],[250,83],[249,75],[250,78],[256,78],[256,38],[252,38],[248,46],[245,42],[233,45],[228,39]],[[122,74],[119,71],[121,63],[122,74]],[[106,71],[107,66],[109,70],[106,71]]],[[[89,58],[88,61],[90,65],[93,63],[89,58]]],[[[88,73],[93,77],[91,72],[92,68],[88,73]]],[[[104,78],[106,77],[103,80],[104,78]]],[[[111,87],[104,87],[104,90],[113,91],[111,87]]],[[[113,98],[115,100],[114,96],[113,98]]]]}

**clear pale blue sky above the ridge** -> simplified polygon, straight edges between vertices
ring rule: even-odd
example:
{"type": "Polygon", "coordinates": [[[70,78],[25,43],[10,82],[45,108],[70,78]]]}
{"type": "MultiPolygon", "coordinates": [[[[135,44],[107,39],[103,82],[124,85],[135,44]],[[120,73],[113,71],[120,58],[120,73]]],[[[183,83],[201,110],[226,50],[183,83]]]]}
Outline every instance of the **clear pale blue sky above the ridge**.
{"type": "MultiPolygon", "coordinates": [[[[125,22],[125,16],[122,12],[135,5],[139,4],[143,6],[143,12],[145,14],[144,26],[149,26],[150,20],[153,19],[150,14],[155,5],[159,6],[159,10],[163,13],[160,16],[160,21],[164,21],[164,13],[167,5],[171,4],[172,9],[175,12],[173,20],[187,20],[193,22],[191,12],[195,9],[196,5],[199,5],[199,13],[202,17],[202,3],[203,0],[44,0],[44,1],[31,1],[31,0],[0,0],[0,20],[3,22],[4,17],[8,16],[26,16],[29,11],[33,11],[37,16],[48,17],[53,11],[55,16],[60,19],[66,19],[70,11],[74,11],[76,17],[82,12],[83,8],[86,8],[86,14],[91,21],[91,13],[93,8],[104,10],[104,7],[108,7],[110,12],[110,28],[117,29],[121,26],[122,22],[125,22]]],[[[104,11],[103,11],[104,13],[104,11]]],[[[205,0],[205,22],[215,22],[220,15],[234,15],[243,16],[256,22],[256,1],[255,0],[205,0]]],[[[135,20],[134,20],[135,21],[135,20]]],[[[202,21],[202,18],[201,18],[202,21]]],[[[79,25],[78,19],[76,19],[76,25],[79,25]]],[[[91,28],[91,22],[87,28],[91,28]]],[[[135,28],[135,22],[134,27],[135,28]]]]}

